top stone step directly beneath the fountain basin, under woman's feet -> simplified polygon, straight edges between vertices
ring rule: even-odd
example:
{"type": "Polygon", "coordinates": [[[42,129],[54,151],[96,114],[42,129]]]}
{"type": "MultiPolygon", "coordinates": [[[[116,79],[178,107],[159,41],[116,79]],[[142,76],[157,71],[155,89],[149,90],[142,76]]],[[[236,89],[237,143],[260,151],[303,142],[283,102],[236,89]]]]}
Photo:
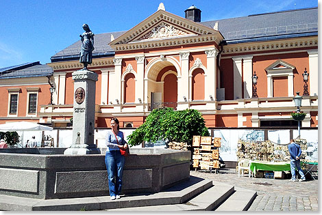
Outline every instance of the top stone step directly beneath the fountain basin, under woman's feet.
{"type": "Polygon", "coordinates": [[[211,180],[190,177],[190,180],[162,192],[131,196],[121,195],[121,199],[114,201],[110,200],[110,196],[71,199],[30,199],[0,195],[0,210],[79,211],[180,204],[195,197],[211,186],[211,180]]]}

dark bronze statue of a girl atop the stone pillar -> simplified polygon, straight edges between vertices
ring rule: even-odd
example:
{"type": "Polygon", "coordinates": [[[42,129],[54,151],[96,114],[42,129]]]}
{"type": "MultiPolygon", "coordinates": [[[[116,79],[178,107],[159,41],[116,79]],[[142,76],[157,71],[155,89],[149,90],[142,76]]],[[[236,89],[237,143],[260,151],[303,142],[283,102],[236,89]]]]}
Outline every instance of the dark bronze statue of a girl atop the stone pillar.
{"type": "Polygon", "coordinates": [[[82,48],[80,52],[79,62],[84,64],[82,70],[87,70],[88,63],[92,63],[92,51],[94,50],[94,33],[90,31],[87,24],[83,25],[84,33],[79,35],[82,41],[82,48]]]}

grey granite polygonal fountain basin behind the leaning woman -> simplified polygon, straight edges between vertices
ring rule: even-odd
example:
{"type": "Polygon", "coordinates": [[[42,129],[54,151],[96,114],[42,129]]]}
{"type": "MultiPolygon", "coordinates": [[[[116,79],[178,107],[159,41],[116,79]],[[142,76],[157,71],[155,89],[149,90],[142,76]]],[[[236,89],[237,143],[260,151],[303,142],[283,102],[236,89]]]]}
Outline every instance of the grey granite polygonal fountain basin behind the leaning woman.
{"type": "MultiPolygon", "coordinates": [[[[64,199],[109,195],[101,154],[64,155],[66,148],[0,149],[0,195],[64,199]]],[[[125,158],[123,194],[153,193],[190,177],[190,151],[131,148],[125,158]]]]}

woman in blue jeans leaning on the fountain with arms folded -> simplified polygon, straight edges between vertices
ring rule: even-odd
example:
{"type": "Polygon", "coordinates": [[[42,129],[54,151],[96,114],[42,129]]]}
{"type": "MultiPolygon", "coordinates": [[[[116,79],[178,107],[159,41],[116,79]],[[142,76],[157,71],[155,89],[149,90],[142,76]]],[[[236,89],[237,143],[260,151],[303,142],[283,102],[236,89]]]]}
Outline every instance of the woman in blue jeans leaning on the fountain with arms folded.
{"type": "Polygon", "coordinates": [[[112,130],[106,134],[106,156],[105,164],[108,170],[108,188],[110,189],[110,199],[120,199],[122,190],[122,175],[125,157],[121,155],[120,149],[127,149],[124,134],[119,130],[119,120],[111,119],[112,130]]]}

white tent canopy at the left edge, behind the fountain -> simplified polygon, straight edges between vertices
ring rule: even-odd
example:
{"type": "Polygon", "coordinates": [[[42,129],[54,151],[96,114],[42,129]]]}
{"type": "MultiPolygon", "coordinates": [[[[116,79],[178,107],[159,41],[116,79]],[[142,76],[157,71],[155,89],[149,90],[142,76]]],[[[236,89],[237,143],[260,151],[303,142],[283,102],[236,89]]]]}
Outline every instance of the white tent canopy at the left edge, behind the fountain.
{"type": "Polygon", "coordinates": [[[53,130],[49,126],[42,126],[29,121],[7,122],[0,125],[0,132],[26,131],[26,130],[53,130]]]}

